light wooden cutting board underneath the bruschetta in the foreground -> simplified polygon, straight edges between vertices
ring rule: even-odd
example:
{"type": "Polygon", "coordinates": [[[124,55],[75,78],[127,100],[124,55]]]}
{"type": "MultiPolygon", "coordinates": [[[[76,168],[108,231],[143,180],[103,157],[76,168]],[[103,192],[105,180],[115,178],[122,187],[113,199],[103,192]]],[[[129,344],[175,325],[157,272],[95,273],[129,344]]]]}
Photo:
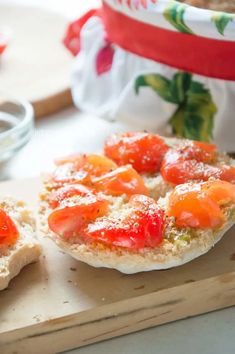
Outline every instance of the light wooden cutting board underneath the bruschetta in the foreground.
{"type": "MultiPolygon", "coordinates": [[[[39,185],[5,182],[0,195],[35,207],[39,185]]],[[[40,262],[0,293],[1,354],[61,352],[234,305],[234,233],[189,264],[136,275],[92,268],[40,238],[40,262]]]]}

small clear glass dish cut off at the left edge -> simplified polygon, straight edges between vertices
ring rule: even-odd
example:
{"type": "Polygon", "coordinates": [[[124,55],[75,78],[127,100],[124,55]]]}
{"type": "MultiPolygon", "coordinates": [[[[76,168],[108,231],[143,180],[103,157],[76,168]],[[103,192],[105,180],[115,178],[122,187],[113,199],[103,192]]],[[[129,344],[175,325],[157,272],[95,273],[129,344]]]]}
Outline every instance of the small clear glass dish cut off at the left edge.
{"type": "Polygon", "coordinates": [[[0,95],[0,167],[29,141],[33,127],[30,103],[0,95]]]}

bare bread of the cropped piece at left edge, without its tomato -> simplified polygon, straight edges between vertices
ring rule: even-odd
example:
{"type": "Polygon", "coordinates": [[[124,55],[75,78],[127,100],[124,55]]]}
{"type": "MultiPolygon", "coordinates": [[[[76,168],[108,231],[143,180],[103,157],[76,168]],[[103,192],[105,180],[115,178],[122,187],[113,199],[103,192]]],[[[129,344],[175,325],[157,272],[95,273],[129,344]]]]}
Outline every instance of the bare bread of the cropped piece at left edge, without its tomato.
{"type": "Polygon", "coordinates": [[[0,290],[5,289],[27,264],[38,260],[41,247],[36,239],[35,219],[22,201],[0,199],[0,208],[14,221],[19,238],[10,247],[0,246],[0,290]]]}

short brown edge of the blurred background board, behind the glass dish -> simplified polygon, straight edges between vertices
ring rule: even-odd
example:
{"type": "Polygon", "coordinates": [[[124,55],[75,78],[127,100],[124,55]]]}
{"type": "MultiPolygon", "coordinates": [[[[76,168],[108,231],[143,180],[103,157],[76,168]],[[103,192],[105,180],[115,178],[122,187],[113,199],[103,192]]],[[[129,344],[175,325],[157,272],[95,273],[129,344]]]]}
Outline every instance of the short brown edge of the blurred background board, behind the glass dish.
{"type": "Polygon", "coordinates": [[[41,118],[72,106],[73,99],[71,90],[67,88],[47,98],[32,101],[31,103],[34,108],[35,118],[41,118]]]}

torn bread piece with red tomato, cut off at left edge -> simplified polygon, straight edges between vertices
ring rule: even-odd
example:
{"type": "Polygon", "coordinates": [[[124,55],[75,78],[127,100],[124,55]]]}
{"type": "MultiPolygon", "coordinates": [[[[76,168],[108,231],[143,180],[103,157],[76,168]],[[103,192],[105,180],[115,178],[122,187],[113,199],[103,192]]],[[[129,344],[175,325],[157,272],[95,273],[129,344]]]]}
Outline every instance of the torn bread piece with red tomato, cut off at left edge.
{"type": "Polygon", "coordinates": [[[22,201],[0,199],[0,290],[26,265],[38,260],[41,246],[35,219],[22,201]]]}

